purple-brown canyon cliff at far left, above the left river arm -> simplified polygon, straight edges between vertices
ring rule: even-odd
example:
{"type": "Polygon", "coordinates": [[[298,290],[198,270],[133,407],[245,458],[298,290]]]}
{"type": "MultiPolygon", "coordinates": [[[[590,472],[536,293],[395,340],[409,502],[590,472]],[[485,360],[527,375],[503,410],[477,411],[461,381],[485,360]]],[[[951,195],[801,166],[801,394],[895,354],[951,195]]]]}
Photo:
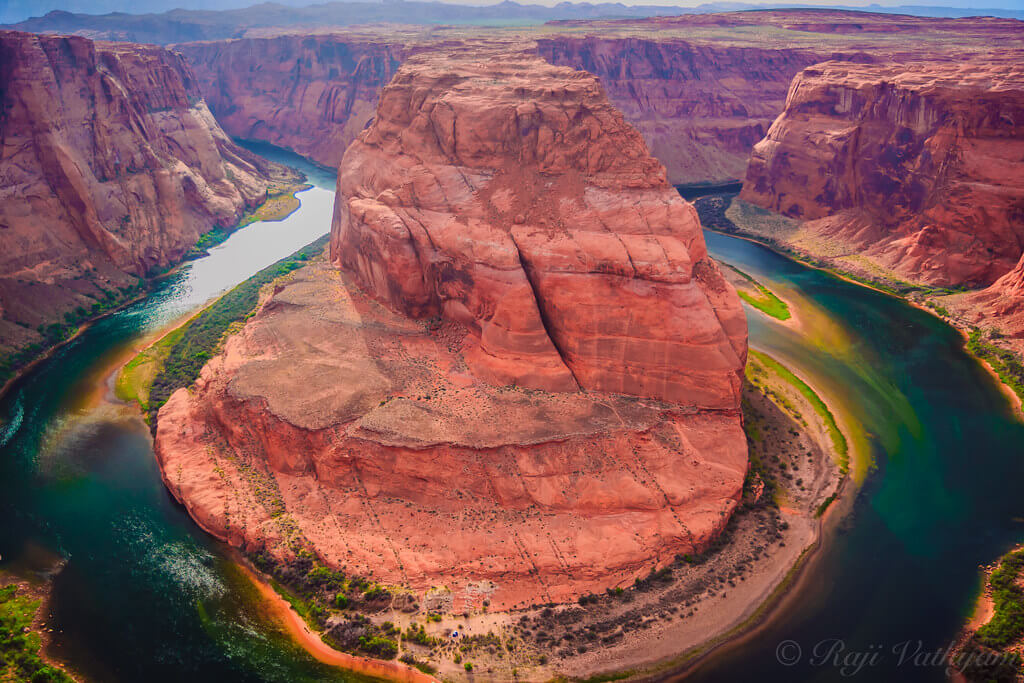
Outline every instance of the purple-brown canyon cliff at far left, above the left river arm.
{"type": "Polygon", "coordinates": [[[6,352],[180,260],[286,175],[227,138],[163,48],[0,32],[0,97],[6,352]]]}

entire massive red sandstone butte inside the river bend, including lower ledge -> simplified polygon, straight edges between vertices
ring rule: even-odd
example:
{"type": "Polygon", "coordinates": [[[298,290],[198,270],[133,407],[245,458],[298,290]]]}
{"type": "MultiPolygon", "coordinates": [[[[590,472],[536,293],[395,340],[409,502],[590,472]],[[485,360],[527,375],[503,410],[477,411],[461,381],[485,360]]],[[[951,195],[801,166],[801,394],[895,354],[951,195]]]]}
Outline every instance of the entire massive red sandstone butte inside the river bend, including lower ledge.
{"type": "Polygon", "coordinates": [[[339,267],[282,282],[161,410],[201,524],[453,609],[570,600],[721,530],[745,322],[594,77],[411,57],[338,186],[339,267]]]}

